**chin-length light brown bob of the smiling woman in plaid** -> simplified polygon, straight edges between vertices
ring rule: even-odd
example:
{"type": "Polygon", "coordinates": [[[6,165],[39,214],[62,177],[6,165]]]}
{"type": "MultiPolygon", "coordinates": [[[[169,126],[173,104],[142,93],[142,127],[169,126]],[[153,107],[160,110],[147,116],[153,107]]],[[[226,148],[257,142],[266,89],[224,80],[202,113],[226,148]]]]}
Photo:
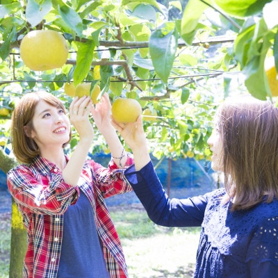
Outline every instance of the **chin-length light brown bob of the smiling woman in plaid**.
{"type": "MultiPolygon", "coordinates": [[[[31,163],[33,158],[40,154],[38,145],[31,137],[27,136],[26,130],[24,130],[24,126],[28,127],[29,130],[33,129],[33,115],[35,113],[35,107],[40,99],[46,101],[47,104],[51,106],[63,109],[64,113],[66,113],[62,101],[49,92],[30,92],[19,100],[13,111],[11,124],[13,154],[19,163],[31,163]]],[[[70,142],[70,140],[68,142],[70,142]]],[[[63,147],[65,147],[68,142],[66,142],[63,147]]]]}

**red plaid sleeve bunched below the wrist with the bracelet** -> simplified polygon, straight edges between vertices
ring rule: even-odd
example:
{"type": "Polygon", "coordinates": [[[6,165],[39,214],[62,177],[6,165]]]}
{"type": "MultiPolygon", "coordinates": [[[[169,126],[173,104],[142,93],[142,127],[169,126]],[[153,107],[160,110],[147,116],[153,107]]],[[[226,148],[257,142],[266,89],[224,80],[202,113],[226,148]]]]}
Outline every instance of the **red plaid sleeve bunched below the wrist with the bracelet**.
{"type": "Polygon", "coordinates": [[[117,167],[113,159],[108,163],[108,167],[90,161],[93,181],[105,198],[132,191],[129,182],[124,177],[124,171],[133,164],[133,156],[131,154],[127,156],[126,165],[123,168],[117,167]]]}

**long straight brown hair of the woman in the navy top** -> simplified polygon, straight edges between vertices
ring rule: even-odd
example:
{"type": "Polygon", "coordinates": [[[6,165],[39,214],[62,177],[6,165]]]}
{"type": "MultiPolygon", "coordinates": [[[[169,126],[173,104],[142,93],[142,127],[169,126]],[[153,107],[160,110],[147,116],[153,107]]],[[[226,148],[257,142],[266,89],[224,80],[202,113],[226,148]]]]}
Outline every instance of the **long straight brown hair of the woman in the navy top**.
{"type": "Polygon", "coordinates": [[[225,101],[218,111],[224,186],[232,210],[278,198],[278,108],[252,97],[225,101]]]}

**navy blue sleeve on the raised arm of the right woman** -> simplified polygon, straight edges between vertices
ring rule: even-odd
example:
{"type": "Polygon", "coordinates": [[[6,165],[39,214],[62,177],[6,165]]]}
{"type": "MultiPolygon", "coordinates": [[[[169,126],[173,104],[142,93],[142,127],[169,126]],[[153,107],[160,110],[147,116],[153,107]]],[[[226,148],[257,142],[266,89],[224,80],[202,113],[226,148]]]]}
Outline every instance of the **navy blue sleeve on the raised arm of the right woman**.
{"type": "Polygon", "coordinates": [[[136,172],[134,165],[125,171],[126,179],[145,207],[149,218],[165,227],[197,227],[202,224],[206,195],[169,199],[163,190],[152,161],[136,172]]]}

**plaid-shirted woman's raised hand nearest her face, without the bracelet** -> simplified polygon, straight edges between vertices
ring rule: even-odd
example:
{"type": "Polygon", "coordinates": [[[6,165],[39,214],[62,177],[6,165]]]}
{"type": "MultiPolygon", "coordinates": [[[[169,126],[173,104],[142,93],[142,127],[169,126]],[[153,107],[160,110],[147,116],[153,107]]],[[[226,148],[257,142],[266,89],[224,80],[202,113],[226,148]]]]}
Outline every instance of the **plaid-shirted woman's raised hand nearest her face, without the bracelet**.
{"type": "Polygon", "coordinates": [[[70,121],[79,133],[80,140],[88,139],[92,141],[94,138],[94,129],[89,119],[92,109],[92,101],[90,97],[74,98],[70,104],[70,121]]]}

